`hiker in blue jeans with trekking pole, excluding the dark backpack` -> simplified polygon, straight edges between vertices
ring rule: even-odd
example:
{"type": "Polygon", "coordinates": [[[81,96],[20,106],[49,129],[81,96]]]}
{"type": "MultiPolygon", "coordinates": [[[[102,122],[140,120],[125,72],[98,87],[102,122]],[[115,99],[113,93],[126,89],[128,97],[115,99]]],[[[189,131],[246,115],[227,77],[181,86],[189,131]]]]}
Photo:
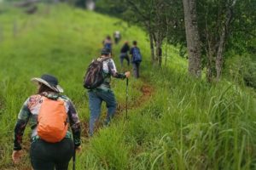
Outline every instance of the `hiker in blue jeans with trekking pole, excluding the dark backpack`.
{"type": "Polygon", "coordinates": [[[125,79],[130,77],[130,71],[125,73],[118,73],[111,59],[110,50],[108,48],[102,49],[102,56],[98,59],[102,61],[103,82],[96,88],[92,88],[88,91],[89,95],[89,107],[90,107],[90,122],[89,122],[89,134],[93,135],[96,121],[101,114],[102,101],[106,102],[108,113],[104,121],[104,126],[108,126],[109,122],[113,118],[116,110],[116,100],[112,89],[110,88],[111,76],[115,78],[125,79]]]}

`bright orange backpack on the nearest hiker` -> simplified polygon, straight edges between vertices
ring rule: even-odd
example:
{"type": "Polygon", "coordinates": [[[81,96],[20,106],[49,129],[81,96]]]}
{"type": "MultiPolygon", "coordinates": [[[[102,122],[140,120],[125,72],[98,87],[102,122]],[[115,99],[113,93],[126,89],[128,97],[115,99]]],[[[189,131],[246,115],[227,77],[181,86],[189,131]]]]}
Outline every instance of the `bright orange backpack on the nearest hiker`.
{"type": "Polygon", "coordinates": [[[49,143],[60,142],[67,133],[67,112],[64,101],[43,97],[38,114],[38,136],[49,143]]]}

